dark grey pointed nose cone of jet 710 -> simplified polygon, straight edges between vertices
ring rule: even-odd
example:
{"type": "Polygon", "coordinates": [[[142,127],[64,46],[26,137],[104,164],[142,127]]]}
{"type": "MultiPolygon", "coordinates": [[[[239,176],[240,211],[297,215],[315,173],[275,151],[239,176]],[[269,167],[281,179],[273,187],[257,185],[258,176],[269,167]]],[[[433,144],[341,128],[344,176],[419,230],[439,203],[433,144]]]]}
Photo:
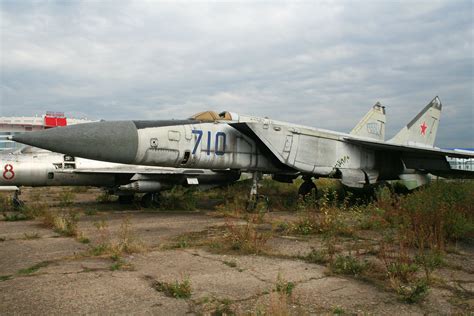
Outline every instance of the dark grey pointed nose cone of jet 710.
{"type": "Polygon", "coordinates": [[[132,121],[94,122],[13,136],[16,142],[83,158],[132,163],[138,132],[132,121]]]}

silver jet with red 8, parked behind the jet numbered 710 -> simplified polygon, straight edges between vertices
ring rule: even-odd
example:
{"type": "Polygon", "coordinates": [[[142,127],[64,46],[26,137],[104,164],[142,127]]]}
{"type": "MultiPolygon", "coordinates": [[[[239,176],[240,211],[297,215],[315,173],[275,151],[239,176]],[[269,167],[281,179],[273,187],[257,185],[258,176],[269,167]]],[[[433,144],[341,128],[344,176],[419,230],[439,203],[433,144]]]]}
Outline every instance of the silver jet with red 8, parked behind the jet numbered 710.
{"type": "MultiPolygon", "coordinates": [[[[207,189],[235,182],[240,172],[125,165],[77,158],[34,147],[0,154],[1,186],[94,186],[131,202],[135,193],[145,193],[144,206],[159,203],[159,193],[174,185],[207,189]]],[[[18,191],[16,191],[18,192],[18,191]]],[[[14,206],[21,205],[18,194],[14,206]]]]}

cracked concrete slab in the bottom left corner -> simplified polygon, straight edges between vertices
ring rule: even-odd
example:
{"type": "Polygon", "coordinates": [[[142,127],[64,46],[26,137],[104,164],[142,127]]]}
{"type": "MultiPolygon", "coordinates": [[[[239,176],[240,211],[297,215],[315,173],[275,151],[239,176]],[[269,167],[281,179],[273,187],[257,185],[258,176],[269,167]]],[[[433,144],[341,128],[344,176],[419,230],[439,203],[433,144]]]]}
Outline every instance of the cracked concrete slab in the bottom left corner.
{"type": "Polygon", "coordinates": [[[2,313],[183,315],[184,300],[152,289],[137,272],[42,274],[0,282],[2,313]]]}

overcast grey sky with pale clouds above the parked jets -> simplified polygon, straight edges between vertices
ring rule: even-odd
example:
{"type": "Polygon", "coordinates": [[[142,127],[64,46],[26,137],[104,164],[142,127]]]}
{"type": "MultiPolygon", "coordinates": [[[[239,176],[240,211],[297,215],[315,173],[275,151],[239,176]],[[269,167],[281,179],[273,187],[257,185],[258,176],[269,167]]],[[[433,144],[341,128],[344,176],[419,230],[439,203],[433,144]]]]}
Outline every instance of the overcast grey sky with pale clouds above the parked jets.
{"type": "Polygon", "coordinates": [[[474,147],[472,1],[0,0],[0,115],[207,109],[393,136],[439,95],[436,145],[474,147]]]}

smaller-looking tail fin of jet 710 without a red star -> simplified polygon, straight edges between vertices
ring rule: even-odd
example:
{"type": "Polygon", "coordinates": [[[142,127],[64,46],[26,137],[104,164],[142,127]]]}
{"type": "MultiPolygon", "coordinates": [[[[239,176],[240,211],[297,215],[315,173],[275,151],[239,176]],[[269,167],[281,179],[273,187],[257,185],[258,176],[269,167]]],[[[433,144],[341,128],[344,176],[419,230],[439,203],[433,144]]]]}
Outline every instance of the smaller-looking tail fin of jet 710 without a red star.
{"type": "Polygon", "coordinates": [[[357,123],[350,132],[351,135],[368,137],[379,141],[385,140],[385,107],[380,102],[357,123]]]}

